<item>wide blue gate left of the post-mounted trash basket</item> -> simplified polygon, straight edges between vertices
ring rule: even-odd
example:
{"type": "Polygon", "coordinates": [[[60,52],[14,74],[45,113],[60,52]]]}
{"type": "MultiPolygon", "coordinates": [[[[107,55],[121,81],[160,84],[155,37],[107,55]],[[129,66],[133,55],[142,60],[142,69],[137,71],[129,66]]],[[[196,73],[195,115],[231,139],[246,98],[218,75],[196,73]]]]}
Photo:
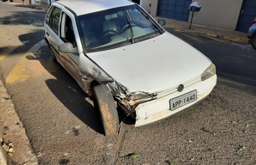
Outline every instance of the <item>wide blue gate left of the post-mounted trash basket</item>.
{"type": "Polygon", "coordinates": [[[158,0],[157,15],[160,17],[188,21],[188,5],[192,0],[158,0]]]}

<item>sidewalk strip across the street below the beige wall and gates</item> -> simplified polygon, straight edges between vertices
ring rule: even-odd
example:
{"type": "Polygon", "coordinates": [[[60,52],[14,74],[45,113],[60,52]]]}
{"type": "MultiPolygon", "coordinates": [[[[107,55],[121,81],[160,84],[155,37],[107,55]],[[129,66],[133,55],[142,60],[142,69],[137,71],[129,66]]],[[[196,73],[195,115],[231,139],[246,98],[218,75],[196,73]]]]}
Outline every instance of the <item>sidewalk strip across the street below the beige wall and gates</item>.
{"type": "MultiPolygon", "coordinates": [[[[155,20],[158,20],[162,17],[155,17],[155,20]]],[[[231,31],[225,29],[219,29],[215,27],[209,26],[202,26],[202,25],[191,25],[191,29],[189,29],[190,20],[189,22],[175,20],[175,19],[166,19],[166,25],[163,26],[166,30],[174,30],[178,32],[192,32],[192,33],[200,33],[212,37],[223,38],[226,40],[231,40],[235,42],[242,42],[242,43],[250,43],[250,40],[247,38],[247,33],[238,32],[238,31],[231,31]]]]}

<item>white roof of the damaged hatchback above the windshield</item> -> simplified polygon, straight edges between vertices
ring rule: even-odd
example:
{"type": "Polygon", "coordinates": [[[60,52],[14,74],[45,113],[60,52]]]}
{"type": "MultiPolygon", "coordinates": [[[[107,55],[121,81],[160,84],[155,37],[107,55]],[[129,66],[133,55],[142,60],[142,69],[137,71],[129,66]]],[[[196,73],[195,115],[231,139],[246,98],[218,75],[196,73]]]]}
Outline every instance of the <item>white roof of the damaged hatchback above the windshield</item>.
{"type": "Polygon", "coordinates": [[[60,0],[56,2],[70,8],[76,15],[134,4],[129,0],[60,0]]]}

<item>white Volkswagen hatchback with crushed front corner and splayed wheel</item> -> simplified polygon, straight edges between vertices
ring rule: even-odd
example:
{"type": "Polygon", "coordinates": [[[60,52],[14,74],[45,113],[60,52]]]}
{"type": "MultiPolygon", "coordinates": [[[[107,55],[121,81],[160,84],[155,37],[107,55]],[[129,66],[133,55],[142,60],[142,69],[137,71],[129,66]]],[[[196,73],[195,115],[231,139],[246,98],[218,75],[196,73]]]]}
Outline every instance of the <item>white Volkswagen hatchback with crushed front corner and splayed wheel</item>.
{"type": "Polygon", "coordinates": [[[142,126],[176,115],[207,97],[215,65],[164,31],[128,0],[60,0],[45,18],[45,41],[93,98],[105,135],[118,132],[117,107],[142,126]]]}

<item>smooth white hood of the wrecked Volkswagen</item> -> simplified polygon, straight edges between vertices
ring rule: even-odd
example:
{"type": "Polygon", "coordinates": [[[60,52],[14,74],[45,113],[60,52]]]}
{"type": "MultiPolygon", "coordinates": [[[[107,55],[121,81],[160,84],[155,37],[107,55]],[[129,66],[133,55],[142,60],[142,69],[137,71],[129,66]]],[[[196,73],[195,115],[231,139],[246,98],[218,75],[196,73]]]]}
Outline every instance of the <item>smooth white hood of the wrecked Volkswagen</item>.
{"type": "Polygon", "coordinates": [[[127,94],[151,94],[173,88],[199,76],[211,64],[202,53],[168,32],[86,55],[126,87],[127,94]]]}

